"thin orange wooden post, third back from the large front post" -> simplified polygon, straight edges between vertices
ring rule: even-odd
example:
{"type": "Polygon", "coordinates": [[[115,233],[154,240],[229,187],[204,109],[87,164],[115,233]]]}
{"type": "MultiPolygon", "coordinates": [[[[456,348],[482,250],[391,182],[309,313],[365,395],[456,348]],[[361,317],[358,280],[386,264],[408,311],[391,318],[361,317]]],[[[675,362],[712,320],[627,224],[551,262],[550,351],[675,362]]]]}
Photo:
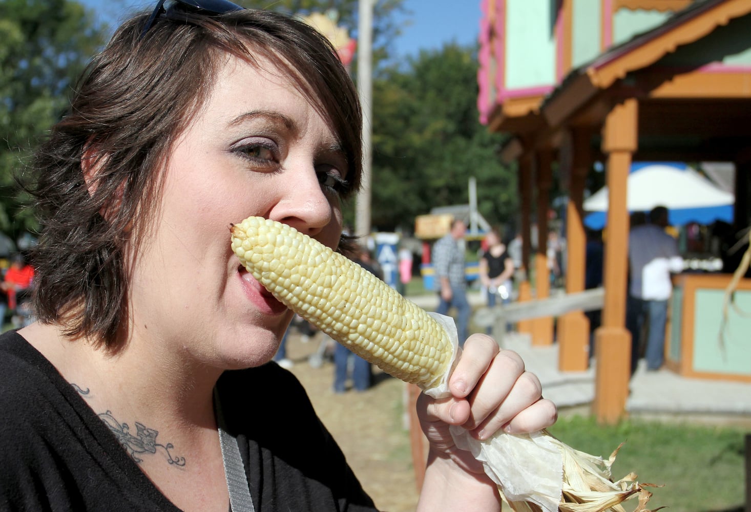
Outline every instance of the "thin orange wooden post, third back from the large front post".
{"type": "MultiPolygon", "coordinates": [[[[537,253],[535,254],[535,298],[550,297],[550,271],[547,269],[547,212],[553,185],[553,155],[538,152],[537,158],[537,253]]],[[[532,345],[553,345],[553,317],[532,320],[532,345]]]]}

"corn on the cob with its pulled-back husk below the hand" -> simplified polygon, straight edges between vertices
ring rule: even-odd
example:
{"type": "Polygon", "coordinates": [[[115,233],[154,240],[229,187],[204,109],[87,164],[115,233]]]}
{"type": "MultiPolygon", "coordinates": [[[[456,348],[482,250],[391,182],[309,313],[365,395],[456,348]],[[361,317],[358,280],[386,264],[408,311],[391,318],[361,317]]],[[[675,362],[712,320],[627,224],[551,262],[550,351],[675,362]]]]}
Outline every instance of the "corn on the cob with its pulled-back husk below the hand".
{"type": "MultiPolygon", "coordinates": [[[[360,265],[286,224],[261,217],[246,218],[231,227],[231,234],[232,250],[255,279],[337,342],[423,390],[430,392],[448,379],[454,344],[443,327],[360,265]]],[[[617,450],[604,461],[573,450],[544,430],[520,436],[500,433],[487,441],[454,429],[452,434],[463,435],[457,446],[483,461],[502,498],[517,512],[624,512],[620,503],[629,498],[638,498],[635,512],[649,512],[651,493],[635,481],[635,474],[611,480],[617,450]],[[553,465],[558,465],[552,468],[553,480],[559,480],[553,483],[556,492],[538,497],[536,483],[509,485],[508,458],[517,453],[541,465],[552,454],[553,465]],[[520,487],[526,490],[517,491],[520,487]]]]}

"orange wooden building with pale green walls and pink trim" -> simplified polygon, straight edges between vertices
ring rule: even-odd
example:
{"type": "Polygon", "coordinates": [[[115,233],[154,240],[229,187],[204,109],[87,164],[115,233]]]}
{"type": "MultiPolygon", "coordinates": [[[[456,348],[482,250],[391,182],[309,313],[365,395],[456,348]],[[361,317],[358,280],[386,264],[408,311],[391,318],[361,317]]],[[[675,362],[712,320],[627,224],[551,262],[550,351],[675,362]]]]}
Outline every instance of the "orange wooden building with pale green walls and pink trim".
{"type": "MultiPolygon", "coordinates": [[[[605,306],[595,335],[594,413],[612,422],[624,414],[630,375],[626,178],[632,162],[733,162],[734,223],[749,225],[751,1],[482,0],[481,8],[478,109],[490,130],[512,136],[501,158],[517,162],[523,259],[538,278],[534,289],[522,283],[522,298],[550,293],[544,244],[532,254],[529,233],[536,222],[538,239],[546,239],[547,215],[535,219],[533,210],[547,212],[554,184],[569,197],[566,291],[584,290],[584,182],[596,162],[605,168],[605,306]]],[[[711,286],[720,289],[729,280],[715,276],[711,286]]],[[[686,290],[701,286],[689,283],[686,290]]],[[[682,294],[684,302],[690,298],[682,294]]],[[[559,343],[563,371],[587,368],[583,312],[558,318],[555,340],[552,318],[520,329],[534,344],[559,343]]],[[[685,362],[677,358],[680,370],[685,362]]]]}

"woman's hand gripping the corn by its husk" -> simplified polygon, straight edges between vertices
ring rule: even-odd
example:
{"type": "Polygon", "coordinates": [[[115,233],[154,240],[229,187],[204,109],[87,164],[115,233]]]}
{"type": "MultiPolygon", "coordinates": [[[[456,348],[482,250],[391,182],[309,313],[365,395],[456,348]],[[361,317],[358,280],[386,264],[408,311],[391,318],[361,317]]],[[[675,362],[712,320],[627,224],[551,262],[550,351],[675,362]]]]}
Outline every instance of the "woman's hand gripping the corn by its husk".
{"type": "Polygon", "coordinates": [[[452,394],[448,398],[420,396],[418,417],[430,441],[431,456],[480,480],[487,478],[482,463],[454,445],[451,425],[486,439],[499,429],[511,434],[535,432],[552,425],[557,417],[556,406],[542,398],[540,381],[525,371],[521,357],[500,350],[484,334],[466,340],[448,384],[452,394]]]}

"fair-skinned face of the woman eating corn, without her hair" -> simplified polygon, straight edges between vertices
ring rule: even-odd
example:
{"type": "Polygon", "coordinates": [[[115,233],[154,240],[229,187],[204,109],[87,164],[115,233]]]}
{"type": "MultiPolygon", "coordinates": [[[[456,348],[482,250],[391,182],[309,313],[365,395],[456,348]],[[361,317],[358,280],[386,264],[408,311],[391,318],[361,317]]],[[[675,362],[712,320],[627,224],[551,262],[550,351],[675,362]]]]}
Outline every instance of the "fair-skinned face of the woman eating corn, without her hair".
{"type": "Polygon", "coordinates": [[[336,135],[259,64],[228,58],[170,151],[154,230],[131,261],[134,337],[221,369],[270,360],[292,316],[240,267],[230,224],[260,215],[330,247],[342,227],[336,135]]]}

